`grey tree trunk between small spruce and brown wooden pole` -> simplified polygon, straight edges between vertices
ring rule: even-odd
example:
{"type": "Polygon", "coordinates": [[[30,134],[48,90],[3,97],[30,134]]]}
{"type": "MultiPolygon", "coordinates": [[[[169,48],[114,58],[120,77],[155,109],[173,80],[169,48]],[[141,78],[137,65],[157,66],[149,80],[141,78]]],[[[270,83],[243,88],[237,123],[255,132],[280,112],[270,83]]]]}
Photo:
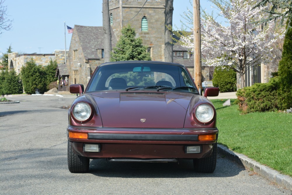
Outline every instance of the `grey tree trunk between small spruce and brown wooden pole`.
{"type": "Polygon", "coordinates": [[[164,26],[164,61],[173,62],[173,44],[172,44],[172,14],[173,0],[165,1],[165,26],[164,26]]]}

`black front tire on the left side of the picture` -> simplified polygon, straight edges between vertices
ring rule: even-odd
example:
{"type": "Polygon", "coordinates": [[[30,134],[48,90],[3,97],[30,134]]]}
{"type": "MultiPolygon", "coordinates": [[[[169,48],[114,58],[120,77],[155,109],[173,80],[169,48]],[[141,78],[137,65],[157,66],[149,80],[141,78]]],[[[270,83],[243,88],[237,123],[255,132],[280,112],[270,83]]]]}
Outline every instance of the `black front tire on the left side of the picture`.
{"type": "Polygon", "coordinates": [[[75,154],[72,143],[68,141],[68,169],[71,173],[86,173],[89,169],[89,159],[75,154]]]}

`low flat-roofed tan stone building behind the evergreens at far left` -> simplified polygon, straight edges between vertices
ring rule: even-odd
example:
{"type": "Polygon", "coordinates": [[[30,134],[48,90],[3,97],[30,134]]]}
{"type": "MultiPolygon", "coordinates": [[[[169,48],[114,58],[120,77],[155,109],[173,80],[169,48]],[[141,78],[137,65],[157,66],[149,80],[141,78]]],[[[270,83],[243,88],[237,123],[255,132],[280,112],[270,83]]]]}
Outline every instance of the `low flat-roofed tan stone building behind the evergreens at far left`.
{"type": "Polygon", "coordinates": [[[65,63],[65,50],[55,50],[51,54],[18,54],[18,52],[8,53],[8,66],[9,70],[14,69],[16,74],[20,73],[21,67],[26,62],[33,59],[36,65],[46,66],[50,60],[56,60],[58,64],[65,63]]]}

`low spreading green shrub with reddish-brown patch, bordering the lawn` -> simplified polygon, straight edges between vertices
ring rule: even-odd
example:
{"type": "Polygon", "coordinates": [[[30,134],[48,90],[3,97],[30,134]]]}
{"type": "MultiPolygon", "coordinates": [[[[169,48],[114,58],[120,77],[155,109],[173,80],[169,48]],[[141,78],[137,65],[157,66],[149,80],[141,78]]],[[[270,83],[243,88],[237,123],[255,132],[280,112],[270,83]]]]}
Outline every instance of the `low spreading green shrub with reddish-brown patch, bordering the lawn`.
{"type": "Polygon", "coordinates": [[[278,80],[276,77],[269,83],[255,83],[253,86],[239,89],[236,93],[239,110],[243,113],[277,110],[278,80]]]}

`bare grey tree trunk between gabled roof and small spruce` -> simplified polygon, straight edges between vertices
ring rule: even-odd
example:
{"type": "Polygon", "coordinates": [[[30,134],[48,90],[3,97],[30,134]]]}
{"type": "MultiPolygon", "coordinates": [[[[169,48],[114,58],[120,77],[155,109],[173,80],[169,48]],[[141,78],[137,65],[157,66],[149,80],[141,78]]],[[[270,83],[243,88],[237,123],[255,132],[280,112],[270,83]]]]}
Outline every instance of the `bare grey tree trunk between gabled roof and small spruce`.
{"type": "MultiPolygon", "coordinates": [[[[110,31],[110,18],[109,18],[109,1],[102,0],[102,25],[104,31],[104,62],[110,61],[110,52],[112,51],[112,33],[110,31]]],[[[101,57],[101,56],[100,56],[101,57]]]]}

